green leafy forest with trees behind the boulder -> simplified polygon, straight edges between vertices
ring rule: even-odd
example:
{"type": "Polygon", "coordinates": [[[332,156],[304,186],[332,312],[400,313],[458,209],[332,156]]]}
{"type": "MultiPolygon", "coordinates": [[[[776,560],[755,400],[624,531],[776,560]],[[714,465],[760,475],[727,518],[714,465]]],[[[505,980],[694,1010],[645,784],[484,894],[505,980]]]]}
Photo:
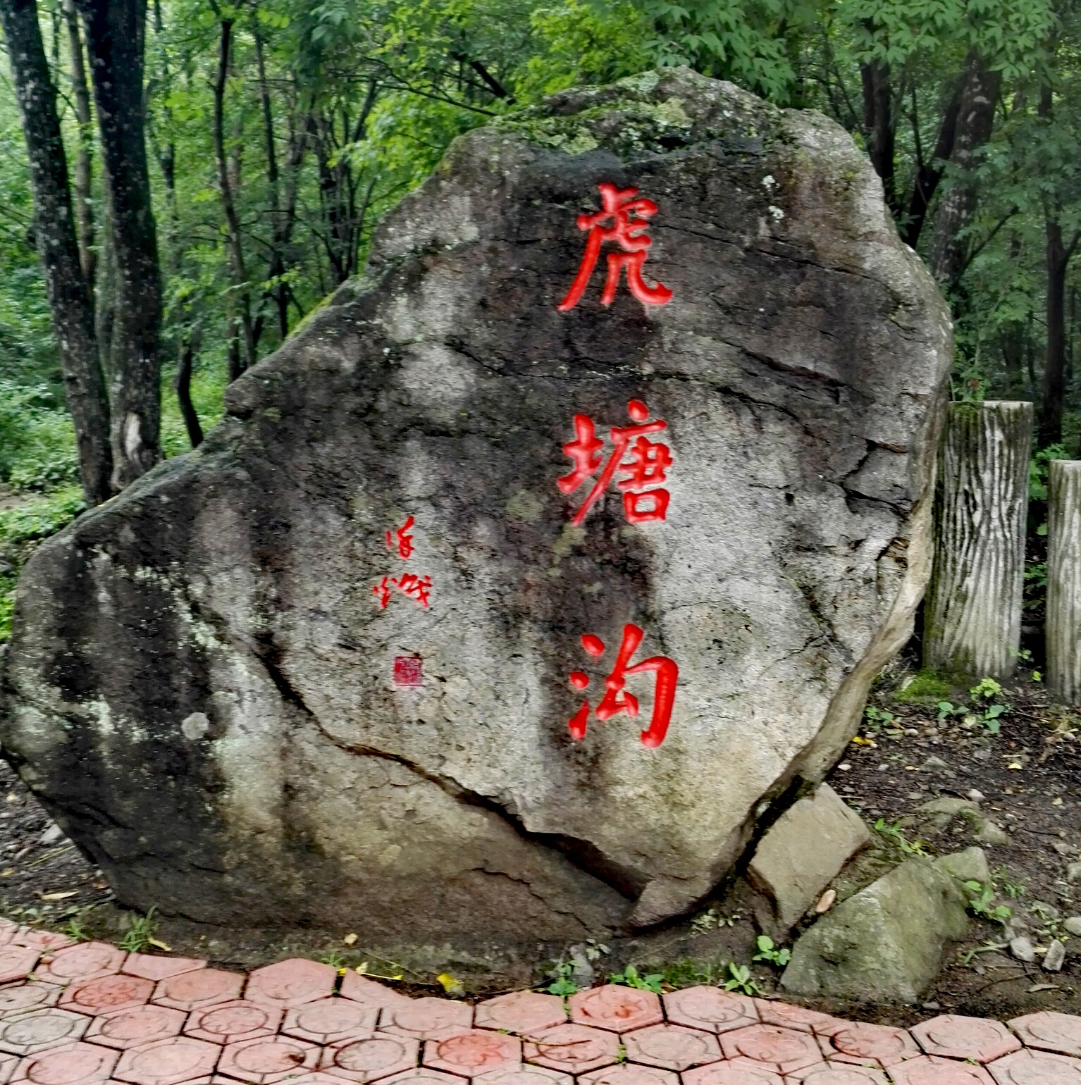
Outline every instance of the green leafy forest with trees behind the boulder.
{"type": "Polygon", "coordinates": [[[1039,622],[1046,461],[1081,456],[1079,3],[0,0],[0,642],[36,542],[196,445],[456,136],[672,64],[848,129],[953,308],[954,397],[1037,404],[1039,622]]]}

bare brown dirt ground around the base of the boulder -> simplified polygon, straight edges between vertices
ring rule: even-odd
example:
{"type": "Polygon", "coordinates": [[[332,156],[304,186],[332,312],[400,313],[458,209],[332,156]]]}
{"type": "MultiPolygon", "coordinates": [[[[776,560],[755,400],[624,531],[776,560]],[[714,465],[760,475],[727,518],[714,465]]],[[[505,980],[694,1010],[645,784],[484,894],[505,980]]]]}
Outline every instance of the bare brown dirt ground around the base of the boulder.
{"type": "MultiPolygon", "coordinates": [[[[979,792],[981,809],[1005,830],[1007,841],[981,845],[994,871],[992,904],[1009,907],[1015,921],[1027,922],[1039,946],[1056,935],[1067,937],[1061,921],[1081,915],[1081,882],[1071,884],[1067,870],[1070,863],[1081,863],[1081,718],[1048,706],[1042,684],[1030,671],[1020,672],[994,699],[1008,705],[997,719],[997,733],[982,722],[983,712],[979,717],[958,713],[937,718],[937,699],[975,706],[967,690],[951,689],[946,698],[942,690],[932,690],[921,697],[923,703],[904,700],[912,695],[908,691],[921,688],[920,681],[903,663],[887,672],[869,702],[879,718],[866,720],[829,782],[870,825],[879,825],[877,855],[887,860],[892,856],[892,861],[903,857],[904,848],[944,854],[972,844],[970,826],[962,824],[944,837],[920,842],[906,819],[932,799],[979,792]]],[[[66,927],[85,936],[137,937],[139,917],[113,902],[101,872],[51,826],[0,762],[0,914],[24,923],[66,927]]],[[[863,863],[867,865],[866,857],[863,863]]],[[[751,978],[763,992],[775,992],[779,971],[751,962],[755,930],[747,892],[736,879],[697,917],[635,937],[605,940],[607,953],[583,945],[578,956],[587,952],[595,958],[598,981],[633,961],[640,972],[660,973],[676,986],[723,980],[729,975],[727,963],[736,961],[750,965],[751,978]]],[[[518,955],[484,946],[444,946],[407,958],[395,954],[392,960],[380,956],[379,947],[366,946],[363,931],[233,931],[168,917],[149,930],[170,952],[208,957],[218,967],[252,968],[284,956],[351,967],[367,961],[370,972],[400,975],[398,984],[415,993],[440,991],[440,971],[459,976],[471,995],[547,983],[552,961],[571,956],[569,946],[545,944],[518,955]]],[[[1003,944],[1004,930],[1001,922],[974,919],[969,940],[950,952],[920,1005],[813,1005],[896,1024],[948,1011],[999,1018],[1044,1008],[1081,1013],[1081,939],[1066,942],[1065,967],[1051,973],[1039,963],[1014,959],[1008,950],[988,948],[1003,944]]]]}

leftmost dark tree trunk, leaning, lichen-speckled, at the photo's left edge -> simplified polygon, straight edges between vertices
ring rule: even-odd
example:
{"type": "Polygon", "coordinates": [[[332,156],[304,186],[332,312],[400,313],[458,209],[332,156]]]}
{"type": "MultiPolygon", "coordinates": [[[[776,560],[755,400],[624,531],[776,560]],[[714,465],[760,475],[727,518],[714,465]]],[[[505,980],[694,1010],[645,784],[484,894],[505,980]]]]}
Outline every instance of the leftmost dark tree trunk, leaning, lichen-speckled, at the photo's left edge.
{"type": "Polygon", "coordinates": [[[34,230],[60,347],[67,408],[75,424],[82,492],[88,505],[98,505],[112,493],[109,401],[93,333],[93,305],[75,238],[56,90],[34,0],[2,0],[0,21],[26,137],[34,230]]]}

